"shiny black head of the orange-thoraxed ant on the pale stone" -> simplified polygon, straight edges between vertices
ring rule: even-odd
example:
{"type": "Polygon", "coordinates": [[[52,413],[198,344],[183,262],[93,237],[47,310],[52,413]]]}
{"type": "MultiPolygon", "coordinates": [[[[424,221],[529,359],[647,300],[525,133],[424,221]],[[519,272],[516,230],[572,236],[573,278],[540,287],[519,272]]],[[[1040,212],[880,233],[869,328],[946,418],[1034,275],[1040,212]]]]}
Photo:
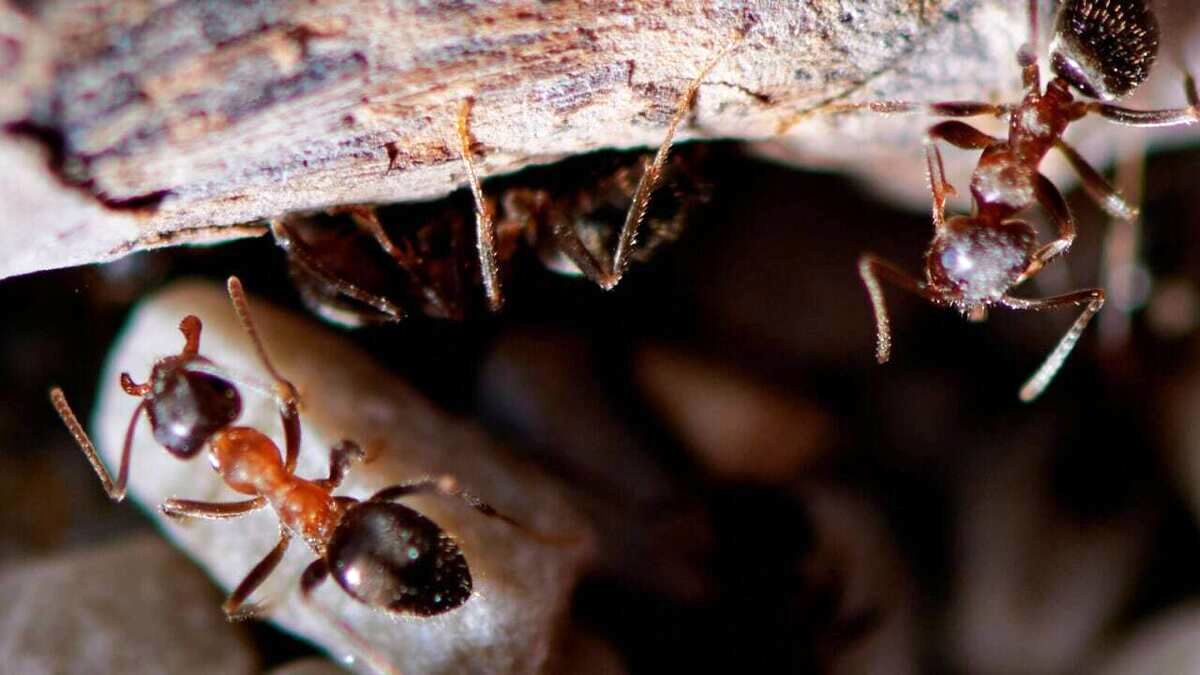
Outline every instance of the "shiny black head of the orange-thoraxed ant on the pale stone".
{"type": "Polygon", "coordinates": [[[194,456],[241,414],[241,396],[233,383],[192,370],[197,362],[208,359],[185,354],[160,360],[142,394],[155,441],[180,459],[194,456]]]}

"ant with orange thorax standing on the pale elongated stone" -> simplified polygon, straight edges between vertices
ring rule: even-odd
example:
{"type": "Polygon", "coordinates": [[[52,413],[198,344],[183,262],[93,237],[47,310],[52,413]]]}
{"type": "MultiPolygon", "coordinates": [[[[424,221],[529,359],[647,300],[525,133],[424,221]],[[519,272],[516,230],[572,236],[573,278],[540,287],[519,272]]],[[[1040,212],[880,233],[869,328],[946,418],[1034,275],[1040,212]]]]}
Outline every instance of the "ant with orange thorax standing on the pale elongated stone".
{"type": "Polygon", "coordinates": [[[336,626],[372,663],[390,671],[386,662],[349,623],[312,603],[311,596],[332,577],[356,601],[395,614],[432,616],[467,602],[472,593],[472,575],[458,543],[436,522],[395,503],[396,500],[420,494],[455,497],[484,515],[535,537],[541,536],[458,489],[451,477],[401,483],[384,488],[364,501],[334,496],[350,462],[365,459],[365,453],[353,441],[334,446],[326,478],[310,480],[295,476],[300,449],[296,389],[268,358],[238,277],[229,277],[228,291],[239,323],[275,381],[284,431],[286,450],[282,458],[280,448],[265,434],[250,426],[233,425],[241,412],[240,394],[229,376],[199,354],[202,324],[192,315],[184,317],[179,325],[184,334],[184,348],[178,356],[155,363],[148,382],[134,384],[128,374],[121,374],[121,388],[142,401],[130,420],[115,482],[67,405],[62,390],[53,388],[50,400],[100,476],[104,491],[118,502],[125,497],[130,448],[143,411],[150,419],[155,440],[174,456],[186,460],[206,446],[212,467],[226,485],[252,497],[236,502],[169,498],[160,510],[176,520],[223,520],[270,504],[280,519],[278,543],[224,601],[222,609],[226,616],[239,621],[262,614],[262,605],[247,604],[246,599],[283,558],[292,538],[299,537],[317,556],[300,578],[302,599],[336,626]]]}

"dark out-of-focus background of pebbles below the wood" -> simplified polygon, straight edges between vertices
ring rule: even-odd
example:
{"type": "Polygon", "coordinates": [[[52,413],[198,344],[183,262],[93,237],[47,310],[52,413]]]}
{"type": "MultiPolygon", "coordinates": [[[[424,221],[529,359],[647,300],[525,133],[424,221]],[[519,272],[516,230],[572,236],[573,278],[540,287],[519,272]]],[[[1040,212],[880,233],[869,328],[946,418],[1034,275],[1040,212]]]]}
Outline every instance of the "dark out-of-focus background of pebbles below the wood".
{"type": "MultiPolygon", "coordinates": [[[[889,288],[878,366],[856,261],[920,274],[928,211],[737,147],[709,155],[707,208],[612,293],[518,257],[500,316],[346,333],[572,485],[604,557],[580,623],[632,673],[1200,668],[1200,151],[1147,159],[1144,303],[1105,306],[1031,405],[1018,388],[1074,311],[971,324],[889,288]]],[[[914,154],[906,180],[922,168],[914,154]]],[[[1024,295],[1103,283],[1109,220],[1068,198],[1079,240],[1024,295]]],[[[151,530],[104,497],[47,389],[86,419],[118,386],[97,374],[130,307],[230,274],[304,311],[269,238],[0,283],[0,589],[49,560],[112,574],[90,551],[151,530]]],[[[38,592],[47,611],[78,602],[38,592]]],[[[242,668],[316,653],[262,623],[230,631],[242,668]]]]}

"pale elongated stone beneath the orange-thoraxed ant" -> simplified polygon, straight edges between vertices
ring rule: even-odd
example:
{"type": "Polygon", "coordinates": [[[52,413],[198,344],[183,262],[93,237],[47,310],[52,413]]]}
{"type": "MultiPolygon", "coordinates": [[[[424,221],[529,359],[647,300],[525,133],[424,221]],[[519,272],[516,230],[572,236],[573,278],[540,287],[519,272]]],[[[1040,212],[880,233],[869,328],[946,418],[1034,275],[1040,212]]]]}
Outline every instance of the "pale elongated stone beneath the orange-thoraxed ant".
{"type": "MultiPolygon", "coordinates": [[[[402,673],[544,671],[570,629],[571,592],[593,555],[590,530],[558,486],[508,456],[474,425],[434,410],[336,335],[263,303],[252,300],[251,311],[276,366],[304,399],[299,476],[326,476],[330,446],[353,438],[377,456],[352,466],[338,495],[362,498],[386,485],[451,474],[464,489],[530,528],[569,538],[550,545],[457,500],[406,498],[406,504],[458,540],[474,578],[473,597],[443,615],[415,619],[370,609],[330,580],[317,591],[316,602],[355,626],[402,673]]],[[[115,466],[125,426],[137,405],[118,387],[118,374],[128,371],[140,380],[156,358],[178,353],[182,345],[178,325],[187,313],[204,322],[202,354],[233,372],[265,377],[221,289],[185,282],[163,291],[136,311],[101,378],[92,428],[109,466],[115,466]]],[[[272,400],[245,387],[241,392],[239,424],[282,442],[272,400]]],[[[170,496],[245,498],[224,488],[205,459],[184,462],[172,458],[155,443],[145,422],[134,437],[130,486],[134,498],[151,509],[170,496]]],[[[278,537],[271,509],[233,521],[184,525],[151,513],[227,590],[278,537]]],[[[256,597],[274,605],[272,621],[341,656],[349,651],[341,634],[300,601],[299,577],[312,560],[307,546],[295,539],[256,597]]]]}

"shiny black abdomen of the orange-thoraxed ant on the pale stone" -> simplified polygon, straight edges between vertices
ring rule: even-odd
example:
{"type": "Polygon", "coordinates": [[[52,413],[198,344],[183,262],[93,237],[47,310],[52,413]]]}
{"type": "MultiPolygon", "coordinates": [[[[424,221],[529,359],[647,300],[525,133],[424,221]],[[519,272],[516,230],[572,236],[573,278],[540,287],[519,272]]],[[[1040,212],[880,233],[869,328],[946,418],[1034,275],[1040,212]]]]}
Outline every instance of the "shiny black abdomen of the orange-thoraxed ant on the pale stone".
{"type": "Polygon", "coordinates": [[[350,507],[329,539],[325,558],[337,584],[371,607],[431,616],[470,597],[470,571],[458,544],[402,504],[350,507]]]}

